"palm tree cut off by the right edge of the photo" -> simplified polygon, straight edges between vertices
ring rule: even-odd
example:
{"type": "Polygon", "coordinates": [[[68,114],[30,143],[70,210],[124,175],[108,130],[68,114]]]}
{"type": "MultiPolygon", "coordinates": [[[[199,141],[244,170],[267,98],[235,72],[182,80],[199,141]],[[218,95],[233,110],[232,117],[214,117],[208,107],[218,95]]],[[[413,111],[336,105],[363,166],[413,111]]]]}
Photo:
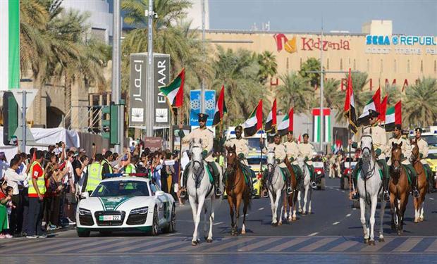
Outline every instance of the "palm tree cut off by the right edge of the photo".
{"type": "Polygon", "coordinates": [[[405,91],[403,119],[410,127],[432,125],[437,119],[437,79],[423,77],[405,91]]]}

